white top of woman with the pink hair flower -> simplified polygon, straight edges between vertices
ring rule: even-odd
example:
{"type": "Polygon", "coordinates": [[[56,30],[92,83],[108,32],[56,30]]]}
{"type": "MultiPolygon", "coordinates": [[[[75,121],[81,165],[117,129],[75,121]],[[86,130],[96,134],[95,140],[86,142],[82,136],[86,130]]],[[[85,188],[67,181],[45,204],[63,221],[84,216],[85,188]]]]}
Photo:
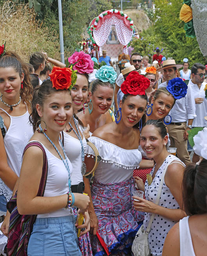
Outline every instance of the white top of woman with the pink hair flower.
{"type": "MultiPolygon", "coordinates": [[[[78,185],[83,181],[83,175],[81,174],[81,143],[79,139],[70,136],[67,132],[64,134],[64,149],[67,157],[70,159],[70,162],[73,166],[73,172],[71,176],[71,185],[78,185]]],[[[86,139],[83,136],[83,147],[84,151],[86,150],[86,139]]]]}

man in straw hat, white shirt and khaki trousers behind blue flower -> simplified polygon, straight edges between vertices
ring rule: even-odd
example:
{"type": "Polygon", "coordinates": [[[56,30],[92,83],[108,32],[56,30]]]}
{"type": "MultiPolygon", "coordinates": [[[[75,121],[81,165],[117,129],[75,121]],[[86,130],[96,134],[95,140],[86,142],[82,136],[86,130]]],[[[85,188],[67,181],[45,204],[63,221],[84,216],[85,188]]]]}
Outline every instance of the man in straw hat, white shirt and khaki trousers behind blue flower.
{"type": "MultiPolygon", "coordinates": [[[[177,77],[177,69],[183,65],[176,64],[175,60],[164,60],[162,68],[157,71],[163,71],[166,82],[160,84],[160,87],[167,87],[168,81],[177,77]]],[[[187,151],[188,130],[192,128],[193,119],[196,117],[195,103],[191,86],[188,86],[185,97],[176,100],[175,105],[169,112],[172,117],[171,124],[167,125],[171,147],[177,148],[177,156],[185,165],[191,163],[187,151]]]]}

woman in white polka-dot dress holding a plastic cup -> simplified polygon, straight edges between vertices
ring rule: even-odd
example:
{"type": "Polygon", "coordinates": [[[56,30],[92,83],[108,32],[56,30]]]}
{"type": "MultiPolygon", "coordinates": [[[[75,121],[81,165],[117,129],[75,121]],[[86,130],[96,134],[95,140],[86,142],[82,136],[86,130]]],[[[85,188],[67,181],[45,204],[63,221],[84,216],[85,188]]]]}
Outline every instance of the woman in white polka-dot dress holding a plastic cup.
{"type": "Polygon", "coordinates": [[[144,230],[147,229],[151,215],[155,214],[150,227],[148,242],[153,256],[162,255],[162,247],[167,232],[173,225],[185,216],[182,210],[182,177],[184,164],[175,155],[167,152],[168,136],[165,125],[158,120],[148,120],[141,130],[140,146],[147,157],[155,161],[151,173],[145,182],[137,181],[139,190],[144,191],[145,198],[133,197],[136,210],[145,212],[144,230]],[[162,184],[161,196],[158,205],[155,204],[158,188],[164,172],[167,170],[162,184]]]}

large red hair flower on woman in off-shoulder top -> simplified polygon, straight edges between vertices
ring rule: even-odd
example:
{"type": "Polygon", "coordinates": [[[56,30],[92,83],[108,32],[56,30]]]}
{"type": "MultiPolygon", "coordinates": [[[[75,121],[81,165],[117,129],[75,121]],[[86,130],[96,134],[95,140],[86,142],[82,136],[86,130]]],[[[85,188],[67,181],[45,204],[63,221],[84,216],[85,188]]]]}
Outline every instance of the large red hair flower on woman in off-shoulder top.
{"type": "Polygon", "coordinates": [[[121,91],[124,94],[145,95],[145,90],[149,85],[149,79],[144,77],[144,75],[140,75],[137,71],[132,71],[122,83],[121,91]]]}

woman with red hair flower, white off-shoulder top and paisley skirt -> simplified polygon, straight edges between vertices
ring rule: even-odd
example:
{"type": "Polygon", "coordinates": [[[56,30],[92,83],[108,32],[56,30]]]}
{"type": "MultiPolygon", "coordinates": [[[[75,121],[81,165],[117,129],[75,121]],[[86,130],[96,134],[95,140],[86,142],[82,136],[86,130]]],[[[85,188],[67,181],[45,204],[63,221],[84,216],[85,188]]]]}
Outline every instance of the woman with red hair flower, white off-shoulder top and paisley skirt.
{"type": "MultiPolygon", "coordinates": [[[[119,118],[99,127],[90,141],[95,144],[101,162],[94,174],[91,187],[90,218],[98,218],[98,225],[91,229],[94,255],[104,255],[97,240],[101,236],[113,255],[130,255],[131,243],[139,229],[144,213],[134,211],[131,203],[135,190],[133,170],[142,159],[138,150],[140,129],[145,123],[149,80],[132,71],[121,85],[124,97],[120,102],[119,118]]],[[[94,152],[87,148],[86,166],[94,166],[94,152]]]]}

